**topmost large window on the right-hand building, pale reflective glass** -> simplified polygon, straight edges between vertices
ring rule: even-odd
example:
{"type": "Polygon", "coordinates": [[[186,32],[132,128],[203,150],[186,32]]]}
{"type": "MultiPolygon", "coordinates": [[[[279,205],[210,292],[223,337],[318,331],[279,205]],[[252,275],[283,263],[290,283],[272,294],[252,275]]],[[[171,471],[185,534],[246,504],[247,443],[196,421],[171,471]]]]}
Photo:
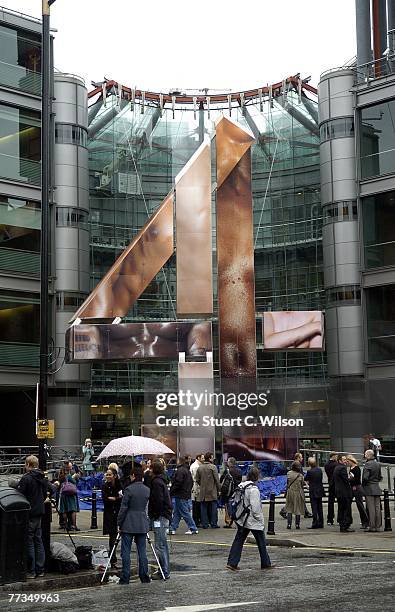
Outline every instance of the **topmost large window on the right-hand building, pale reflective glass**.
{"type": "Polygon", "coordinates": [[[395,172],[395,100],[361,109],[361,177],[395,172]]]}

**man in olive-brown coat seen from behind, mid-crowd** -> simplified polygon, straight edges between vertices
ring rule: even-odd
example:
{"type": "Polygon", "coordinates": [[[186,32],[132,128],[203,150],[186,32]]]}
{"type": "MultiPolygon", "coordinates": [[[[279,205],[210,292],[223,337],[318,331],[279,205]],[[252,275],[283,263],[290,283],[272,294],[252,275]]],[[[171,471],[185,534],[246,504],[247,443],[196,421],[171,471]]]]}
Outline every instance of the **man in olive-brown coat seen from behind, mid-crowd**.
{"type": "Polygon", "coordinates": [[[202,527],[208,529],[209,521],[212,529],[218,529],[218,495],[221,490],[219,476],[214,465],[213,453],[204,455],[204,463],[196,472],[196,482],[200,487],[199,501],[202,514],[202,527]]]}

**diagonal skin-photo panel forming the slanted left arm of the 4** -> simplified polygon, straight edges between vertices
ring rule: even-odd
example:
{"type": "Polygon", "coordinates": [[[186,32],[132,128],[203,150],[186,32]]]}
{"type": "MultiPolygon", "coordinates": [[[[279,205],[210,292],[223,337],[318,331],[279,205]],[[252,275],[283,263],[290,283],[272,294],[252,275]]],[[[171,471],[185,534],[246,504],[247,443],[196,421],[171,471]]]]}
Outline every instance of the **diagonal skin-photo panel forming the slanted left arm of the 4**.
{"type": "Polygon", "coordinates": [[[126,316],[173,253],[173,201],[170,192],[70,322],[126,316]]]}

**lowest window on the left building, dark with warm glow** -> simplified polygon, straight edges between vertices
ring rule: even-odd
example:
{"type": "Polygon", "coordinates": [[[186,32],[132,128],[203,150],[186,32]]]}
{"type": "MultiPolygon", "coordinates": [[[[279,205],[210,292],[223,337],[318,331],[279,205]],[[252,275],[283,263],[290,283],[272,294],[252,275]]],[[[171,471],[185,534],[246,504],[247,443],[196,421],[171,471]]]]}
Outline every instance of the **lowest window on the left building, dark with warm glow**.
{"type": "Polygon", "coordinates": [[[40,298],[37,294],[0,292],[0,342],[40,342],[40,298]]]}

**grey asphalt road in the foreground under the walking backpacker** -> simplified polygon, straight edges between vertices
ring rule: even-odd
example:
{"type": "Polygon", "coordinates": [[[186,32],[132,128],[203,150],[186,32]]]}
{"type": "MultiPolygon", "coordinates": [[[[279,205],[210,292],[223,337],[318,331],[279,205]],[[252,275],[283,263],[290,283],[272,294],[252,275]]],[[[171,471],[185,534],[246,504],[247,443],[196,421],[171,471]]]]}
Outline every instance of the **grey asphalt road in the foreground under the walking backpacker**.
{"type": "MultiPolygon", "coordinates": [[[[219,531],[219,530],[218,530],[219,531]]],[[[58,604],[9,603],[0,610],[76,612],[371,612],[394,609],[395,552],[344,553],[271,547],[276,568],[260,571],[254,545],[246,546],[237,574],[225,569],[228,545],[198,536],[172,543],[171,579],[148,585],[106,585],[61,591],[58,604]]],[[[178,538],[177,538],[178,539],[178,538]]],[[[85,543],[87,540],[85,539],[85,543]]],[[[134,556],[135,559],[135,556],[134,556]]],[[[73,576],[70,576],[70,584],[73,576]]]]}

